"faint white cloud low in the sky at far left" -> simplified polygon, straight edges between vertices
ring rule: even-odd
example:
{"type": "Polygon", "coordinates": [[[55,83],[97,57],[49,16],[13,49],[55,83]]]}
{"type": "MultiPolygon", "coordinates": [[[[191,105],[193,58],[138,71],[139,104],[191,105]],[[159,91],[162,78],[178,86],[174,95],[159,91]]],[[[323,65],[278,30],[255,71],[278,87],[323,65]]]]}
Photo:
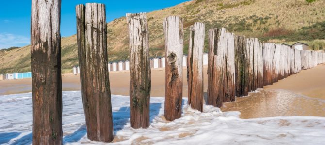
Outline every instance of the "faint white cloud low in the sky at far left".
{"type": "Polygon", "coordinates": [[[0,33],[0,49],[13,46],[25,46],[31,43],[29,37],[14,35],[10,33],[0,33]]]}

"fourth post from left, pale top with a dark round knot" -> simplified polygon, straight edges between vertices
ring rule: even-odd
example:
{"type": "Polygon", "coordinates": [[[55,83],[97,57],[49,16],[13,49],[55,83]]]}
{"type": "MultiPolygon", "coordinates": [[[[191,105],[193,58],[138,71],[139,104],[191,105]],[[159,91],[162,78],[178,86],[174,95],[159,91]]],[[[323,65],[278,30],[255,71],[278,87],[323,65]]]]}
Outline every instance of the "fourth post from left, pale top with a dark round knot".
{"type": "Polygon", "coordinates": [[[164,116],[173,121],[180,117],[183,97],[183,19],[164,19],[165,34],[165,110],[164,116]]]}

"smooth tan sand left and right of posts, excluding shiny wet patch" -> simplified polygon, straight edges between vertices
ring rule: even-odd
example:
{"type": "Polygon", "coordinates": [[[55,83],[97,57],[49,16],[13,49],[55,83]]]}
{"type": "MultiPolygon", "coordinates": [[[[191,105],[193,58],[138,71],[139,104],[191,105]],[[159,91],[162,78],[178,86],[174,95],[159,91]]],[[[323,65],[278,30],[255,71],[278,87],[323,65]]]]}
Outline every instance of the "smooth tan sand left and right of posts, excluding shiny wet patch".
{"type": "MultiPolygon", "coordinates": [[[[164,97],[164,68],[151,70],[151,97],[164,97]]],[[[204,66],[204,92],[207,91],[207,66],[204,66]]],[[[265,90],[288,90],[296,94],[325,100],[325,64],[264,86],[265,90]]],[[[109,72],[111,94],[129,96],[129,71],[109,72]]],[[[32,92],[32,79],[1,80],[0,96],[32,92]]],[[[80,91],[80,75],[62,74],[62,91],[80,91]]],[[[186,67],[183,68],[183,97],[187,97],[186,67]]],[[[241,97],[236,97],[241,98],[241,97]]]]}

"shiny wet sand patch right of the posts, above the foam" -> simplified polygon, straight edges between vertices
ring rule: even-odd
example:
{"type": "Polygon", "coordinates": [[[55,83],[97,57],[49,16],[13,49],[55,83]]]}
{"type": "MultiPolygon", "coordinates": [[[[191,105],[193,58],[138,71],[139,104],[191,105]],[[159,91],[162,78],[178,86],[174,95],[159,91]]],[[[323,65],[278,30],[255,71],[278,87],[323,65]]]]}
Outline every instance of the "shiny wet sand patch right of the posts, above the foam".
{"type": "Polygon", "coordinates": [[[222,111],[240,111],[241,118],[274,116],[325,116],[325,100],[286,90],[259,90],[236,102],[224,103],[222,111]]]}

